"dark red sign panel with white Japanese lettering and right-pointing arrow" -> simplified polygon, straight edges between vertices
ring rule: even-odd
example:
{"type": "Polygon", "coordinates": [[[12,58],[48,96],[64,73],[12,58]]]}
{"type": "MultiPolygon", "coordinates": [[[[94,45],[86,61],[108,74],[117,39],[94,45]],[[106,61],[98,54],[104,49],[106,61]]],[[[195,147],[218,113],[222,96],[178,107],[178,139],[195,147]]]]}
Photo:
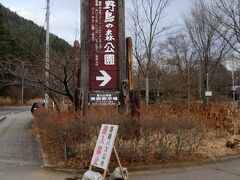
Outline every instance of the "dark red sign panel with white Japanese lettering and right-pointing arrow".
{"type": "Polygon", "coordinates": [[[118,90],[118,0],[89,1],[89,89],[118,90]]]}

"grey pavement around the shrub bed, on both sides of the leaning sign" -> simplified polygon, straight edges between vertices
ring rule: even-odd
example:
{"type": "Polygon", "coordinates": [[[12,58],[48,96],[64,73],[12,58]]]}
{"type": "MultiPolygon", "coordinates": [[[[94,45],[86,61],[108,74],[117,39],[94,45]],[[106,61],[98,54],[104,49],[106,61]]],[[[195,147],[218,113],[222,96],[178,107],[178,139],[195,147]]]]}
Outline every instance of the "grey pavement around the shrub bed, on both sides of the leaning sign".
{"type": "MultiPolygon", "coordinates": [[[[0,122],[0,180],[64,180],[73,174],[41,168],[39,147],[31,133],[29,111],[0,122]]],[[[195,167],[130,172],[130,180],[240,180],[240,159],[195,167]]]]}

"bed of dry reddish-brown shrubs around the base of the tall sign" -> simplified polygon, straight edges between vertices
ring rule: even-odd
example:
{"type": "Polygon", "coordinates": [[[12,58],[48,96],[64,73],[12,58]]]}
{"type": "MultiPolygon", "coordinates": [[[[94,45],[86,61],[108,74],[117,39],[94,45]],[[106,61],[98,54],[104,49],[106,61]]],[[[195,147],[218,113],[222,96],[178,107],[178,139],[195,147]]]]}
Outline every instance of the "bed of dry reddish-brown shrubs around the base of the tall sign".
{"type": "Polygon", "coordinates": [[[53,164],[85,168],[103,123],[119,125],[116,146],[124,165],[152,164],[236,153],[225,144],[234,133],[239,134],[239,115],[240,111],[216,104],[192,103],[188,112],[185,105],[172,103],[144,107],[137,120],[113,108],[92,108],[86,117],[78,112],[41,110],[35,114],[35,124],[53,164]]]}

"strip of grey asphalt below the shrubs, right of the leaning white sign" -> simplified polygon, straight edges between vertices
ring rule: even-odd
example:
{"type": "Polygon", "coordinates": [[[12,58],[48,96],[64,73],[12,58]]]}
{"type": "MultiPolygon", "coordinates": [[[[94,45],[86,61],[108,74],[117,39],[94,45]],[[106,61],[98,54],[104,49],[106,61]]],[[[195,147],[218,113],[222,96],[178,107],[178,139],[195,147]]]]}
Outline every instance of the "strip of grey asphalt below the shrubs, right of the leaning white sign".
{"type": "Polygon", "coordinates": [[[240,180],[240,159],[196,167],[131,173],[131,180],[240,180]]]}

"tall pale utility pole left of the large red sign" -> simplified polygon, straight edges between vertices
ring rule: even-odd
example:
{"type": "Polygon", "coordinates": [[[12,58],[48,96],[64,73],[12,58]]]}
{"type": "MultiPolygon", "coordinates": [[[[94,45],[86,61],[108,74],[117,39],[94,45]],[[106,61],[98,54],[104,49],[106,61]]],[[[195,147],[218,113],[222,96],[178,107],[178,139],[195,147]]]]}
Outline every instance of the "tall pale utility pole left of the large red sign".
{"type": "Polygon", "coordinates": [[[45,88],[45,107],[49,104],[49,17],[50,17],[50,0],[47,0],[46,10],[46,61],[45,61],[45,76],[46,76],[46,88],[45,88]]]}

